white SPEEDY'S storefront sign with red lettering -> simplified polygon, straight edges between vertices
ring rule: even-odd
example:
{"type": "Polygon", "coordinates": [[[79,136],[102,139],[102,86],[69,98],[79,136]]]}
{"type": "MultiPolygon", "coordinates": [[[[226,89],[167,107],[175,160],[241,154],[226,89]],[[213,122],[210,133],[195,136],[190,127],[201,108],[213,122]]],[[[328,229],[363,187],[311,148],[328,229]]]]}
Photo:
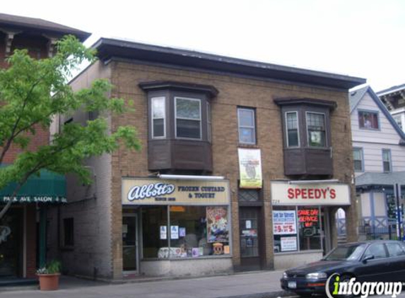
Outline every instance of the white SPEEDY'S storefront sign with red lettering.
{"type": "Polygon", "coordinates": [[[350,205],[347,184],[271,183],[273,205],[350,205]]]}

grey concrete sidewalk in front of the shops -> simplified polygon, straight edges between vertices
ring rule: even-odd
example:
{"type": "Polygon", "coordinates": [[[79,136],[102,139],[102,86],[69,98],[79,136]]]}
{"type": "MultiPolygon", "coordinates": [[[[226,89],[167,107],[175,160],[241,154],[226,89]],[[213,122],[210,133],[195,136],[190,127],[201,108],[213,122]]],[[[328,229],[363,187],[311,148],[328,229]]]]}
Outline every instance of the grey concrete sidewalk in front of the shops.
{"type": "Polygon", "coordinates": [[[60,290],[3,291],[0,298],[78,297],[78,298],[275,298],[290,296],[280,288],[281,271],[258,271],[204,278],[107,284],[78,278],[62,277],[60,290]]]}

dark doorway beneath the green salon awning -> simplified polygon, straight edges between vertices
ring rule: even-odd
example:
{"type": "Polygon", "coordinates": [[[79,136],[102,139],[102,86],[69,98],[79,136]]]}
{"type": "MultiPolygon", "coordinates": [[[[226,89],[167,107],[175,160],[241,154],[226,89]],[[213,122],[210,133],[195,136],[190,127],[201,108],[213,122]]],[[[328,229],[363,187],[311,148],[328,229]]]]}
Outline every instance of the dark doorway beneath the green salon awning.
{"type": "Polygon", "coordinates": [[[23,209],[9,209],[0,220],[0,278],[23,275],[23,209]]]}

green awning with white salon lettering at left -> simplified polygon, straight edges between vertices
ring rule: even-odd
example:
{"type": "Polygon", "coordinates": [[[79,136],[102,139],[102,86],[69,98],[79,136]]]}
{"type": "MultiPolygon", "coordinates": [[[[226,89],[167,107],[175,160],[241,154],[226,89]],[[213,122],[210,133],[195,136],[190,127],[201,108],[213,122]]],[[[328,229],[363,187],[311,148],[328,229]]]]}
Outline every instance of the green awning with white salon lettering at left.
{"type": "Polygon", "coordinates": [[[40,175],[28,178],[18,195],[11,198],[16,183],[0,189],[0,203],[66,203],[66,179],[63,175],[42,169],[40,175]]]}

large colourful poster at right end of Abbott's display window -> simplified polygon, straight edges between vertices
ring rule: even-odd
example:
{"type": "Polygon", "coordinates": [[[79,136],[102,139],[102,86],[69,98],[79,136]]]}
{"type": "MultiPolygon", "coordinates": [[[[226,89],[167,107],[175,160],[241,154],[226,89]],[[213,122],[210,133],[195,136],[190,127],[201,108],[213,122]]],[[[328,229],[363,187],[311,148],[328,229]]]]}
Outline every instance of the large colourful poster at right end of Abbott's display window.
{"type": "Polygon", "coordinates": [[[209,243],[229,241],[227,207],[207,207],[206,225],[209,243]]]}

